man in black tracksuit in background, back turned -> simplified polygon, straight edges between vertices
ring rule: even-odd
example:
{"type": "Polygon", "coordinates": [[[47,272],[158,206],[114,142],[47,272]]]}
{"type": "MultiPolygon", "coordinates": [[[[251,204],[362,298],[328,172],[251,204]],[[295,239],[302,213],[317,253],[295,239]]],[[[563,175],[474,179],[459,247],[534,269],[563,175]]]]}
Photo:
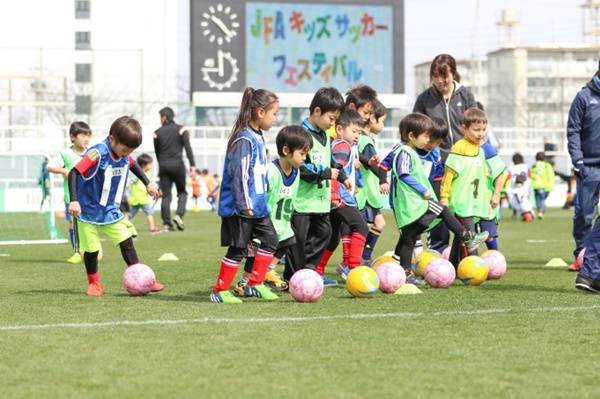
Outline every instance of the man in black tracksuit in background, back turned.
{"type": "Polygon", "coordinates": [[[190,145],[190,134],[185,126],[178,125],[174,121],[175,113],[169,107],[159,111],[160,127],[154,132],[154,152],[158,161],[158,176],[160,178],[160,189],[163,192],[160,213],[163,219],[164,229],[175,230],[171,223],[171,191],[173,183],[177,189],[177,210],[173,222],[177,229],[183,230],[183,215],[187,201],[186,170],[183,163],[182,150],[185,148],[190,172],[194,171],[195,162],[192,146],[190,145]]]}

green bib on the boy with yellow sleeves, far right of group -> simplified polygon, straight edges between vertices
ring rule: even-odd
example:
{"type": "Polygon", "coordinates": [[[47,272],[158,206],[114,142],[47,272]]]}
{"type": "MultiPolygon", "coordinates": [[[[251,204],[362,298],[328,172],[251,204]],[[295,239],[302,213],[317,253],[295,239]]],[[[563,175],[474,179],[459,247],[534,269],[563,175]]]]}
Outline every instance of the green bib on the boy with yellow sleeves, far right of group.
{"type": "Polygon", "coordinates": [[[450,210],[464,218],[489,218],[486,162],[481,148],[474,156],[450,153],[446,167],[456,172],[450,186],[450,210]]]}

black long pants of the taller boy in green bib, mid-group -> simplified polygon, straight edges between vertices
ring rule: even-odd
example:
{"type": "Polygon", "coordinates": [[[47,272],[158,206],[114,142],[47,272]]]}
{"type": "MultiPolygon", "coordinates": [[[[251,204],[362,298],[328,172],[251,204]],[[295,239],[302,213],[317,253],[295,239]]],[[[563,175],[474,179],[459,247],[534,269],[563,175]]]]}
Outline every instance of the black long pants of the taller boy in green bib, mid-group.
{"type": "Polygon", "coordinates": [[[288,281],[300,269],[317,268],[331,237],[329,213],[294,212],[292,229],[296,235],[296,243],[286,253],[283,272],[283,278],[288,281]]]}

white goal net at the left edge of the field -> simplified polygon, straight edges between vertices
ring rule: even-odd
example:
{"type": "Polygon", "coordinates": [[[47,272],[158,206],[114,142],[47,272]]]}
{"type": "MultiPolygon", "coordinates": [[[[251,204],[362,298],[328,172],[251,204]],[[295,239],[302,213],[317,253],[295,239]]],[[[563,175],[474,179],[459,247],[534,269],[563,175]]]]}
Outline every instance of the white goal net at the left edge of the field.
{"type": "Polygon", "coordinates": [[[62,178],[45,172],[44,154],[0,153],[0,245],[65,243],[62,178]]]}

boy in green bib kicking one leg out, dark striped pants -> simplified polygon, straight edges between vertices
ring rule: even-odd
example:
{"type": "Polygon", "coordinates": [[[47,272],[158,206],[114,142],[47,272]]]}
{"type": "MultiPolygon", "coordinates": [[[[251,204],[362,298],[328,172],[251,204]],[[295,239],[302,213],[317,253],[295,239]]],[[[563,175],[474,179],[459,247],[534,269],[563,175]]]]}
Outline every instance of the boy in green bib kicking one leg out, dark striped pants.
{"type": "Polygon", "coordinates": [[[429,135],[433,131],[431,119],[416,112],[408,114],[400,122],[399,129],[404,145],[396,149],[392,163],[392,202],[396,225],[400,231],[400,239],[394,252],[395,258],[400,259],[400,264],[409,273],[417,239],[442,220],[469,250],[476,249],[488,234],[475,234],[473,229],[463,227],[448,207],[437,201],[421,159],[415,151],[422,150],[429,143],[429,135]]]}

